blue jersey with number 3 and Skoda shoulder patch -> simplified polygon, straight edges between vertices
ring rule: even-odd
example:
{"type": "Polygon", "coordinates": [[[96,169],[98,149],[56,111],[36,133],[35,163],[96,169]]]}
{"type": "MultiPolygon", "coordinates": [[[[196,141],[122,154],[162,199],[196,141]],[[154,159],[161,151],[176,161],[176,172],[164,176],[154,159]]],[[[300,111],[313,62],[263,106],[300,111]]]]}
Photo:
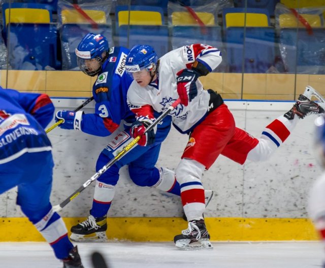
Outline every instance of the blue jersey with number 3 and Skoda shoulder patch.
{"type": "MultiPolygon", "coordinates": [[[[103,63],[101,73],[92,87],[95,104],[94,114],[84,114],[81,130],[91,135],[106,137],[113,133],[124,120],[126,127],[135,120],[135,114],[129,110],[126,94],[133,79],[125,72],[125,61],[129,50],[113,47],[108,59],[103,63]]],[[[160,113],[156,113],[158,117],[160,113]]],[[[163,141],[170,129],[168,116],[158,125],[157,141],[163,141]]]]}

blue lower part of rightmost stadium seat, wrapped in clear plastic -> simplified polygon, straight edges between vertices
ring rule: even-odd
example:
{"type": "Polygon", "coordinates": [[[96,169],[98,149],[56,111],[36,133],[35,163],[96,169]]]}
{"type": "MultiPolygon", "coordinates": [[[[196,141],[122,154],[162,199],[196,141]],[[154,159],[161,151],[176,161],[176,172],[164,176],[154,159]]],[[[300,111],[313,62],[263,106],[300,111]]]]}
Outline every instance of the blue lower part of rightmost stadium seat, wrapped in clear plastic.
{"type": "Polygon", "coordinates": [[[282,28],[280,51],[285,72],[297,74],[325,74],[325,31],[313,28],[310,35],[304,28],[282,28]]]}

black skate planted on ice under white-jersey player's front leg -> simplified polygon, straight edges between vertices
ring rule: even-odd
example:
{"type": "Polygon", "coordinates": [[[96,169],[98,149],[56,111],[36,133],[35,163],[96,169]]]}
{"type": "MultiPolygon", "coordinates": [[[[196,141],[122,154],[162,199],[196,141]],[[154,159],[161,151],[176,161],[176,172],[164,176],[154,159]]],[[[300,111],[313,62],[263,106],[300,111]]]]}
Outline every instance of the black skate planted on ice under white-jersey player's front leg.
{"type": "Polygon", "coordinates": [[[181,235],[174,237],[174,243],[177,248],[184,250],[213,248],[204,220],[189,221],[188,228],[182,230],[181,235]]]}

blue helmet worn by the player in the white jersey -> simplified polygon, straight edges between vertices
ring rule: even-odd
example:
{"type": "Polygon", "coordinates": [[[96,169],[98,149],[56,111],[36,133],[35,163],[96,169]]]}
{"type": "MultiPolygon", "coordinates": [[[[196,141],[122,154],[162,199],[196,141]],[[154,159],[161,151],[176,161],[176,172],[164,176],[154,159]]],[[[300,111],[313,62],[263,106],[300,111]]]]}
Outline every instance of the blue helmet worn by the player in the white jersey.
{"type": "Polygon", "coordinates": [[[135,73],[146,68],[148,72],[154,72],[157,68],[158,57],[154,48],[148,45],[134,46],[126,58],[126,72],[135,73]]]}

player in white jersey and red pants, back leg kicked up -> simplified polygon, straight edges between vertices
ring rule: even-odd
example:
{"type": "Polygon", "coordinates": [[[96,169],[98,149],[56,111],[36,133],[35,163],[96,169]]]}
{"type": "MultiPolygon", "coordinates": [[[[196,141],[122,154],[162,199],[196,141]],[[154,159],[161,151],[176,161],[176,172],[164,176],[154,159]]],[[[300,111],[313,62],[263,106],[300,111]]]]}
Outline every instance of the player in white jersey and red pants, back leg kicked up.
{"type": "Polygon", "coordinates": [[[181,99],[181,105],[170,115],[174,126],[181,133],[189,134],[176,169],[188,228],[175,236],[174,242],[181,249],[209,249],[212,245],[203,217],[203,171],[209,169],[220,154],[240,164],[247,159],[268,159],[300,118],[324,110],[311,101],[314,91],[307,87],[293,108],[271,122],[261,138],[256,139],[235,126],[234,117],[222,97],[211,89],[204,90],[198,79],[220,64],[222,57],[217,48],[187,45],[155,59],[156,53],[148,45],[135,46],[129,52],[126,70],[135,80],[127,92],[128,105],[138,117],[154,120],[153,111],[162,112],[176,99],[181,99]],[[199,245],[195,246],[195,242],[199,245]]]}

